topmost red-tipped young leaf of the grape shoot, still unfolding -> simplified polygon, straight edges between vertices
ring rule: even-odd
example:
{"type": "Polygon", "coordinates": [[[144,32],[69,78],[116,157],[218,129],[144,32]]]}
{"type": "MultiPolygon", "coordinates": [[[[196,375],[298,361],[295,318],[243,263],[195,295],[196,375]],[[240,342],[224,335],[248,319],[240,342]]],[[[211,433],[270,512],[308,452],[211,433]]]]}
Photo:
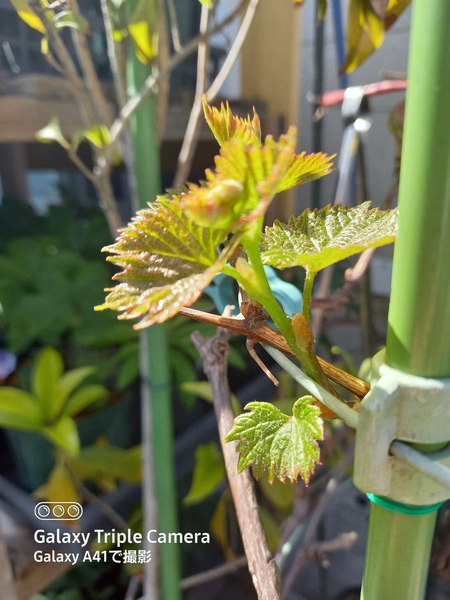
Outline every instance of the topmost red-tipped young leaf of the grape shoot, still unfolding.
{"type": "Polygon", "coordinates": [[[203,112],[215,139],[220,146],[232,139],[239,139],[247,144],[260,143],[261,125],[259,116],[253,107],[253,119],[233,115],[228,102],[220,105],[220,110],[206,102],[203,95],[203,112]]]}

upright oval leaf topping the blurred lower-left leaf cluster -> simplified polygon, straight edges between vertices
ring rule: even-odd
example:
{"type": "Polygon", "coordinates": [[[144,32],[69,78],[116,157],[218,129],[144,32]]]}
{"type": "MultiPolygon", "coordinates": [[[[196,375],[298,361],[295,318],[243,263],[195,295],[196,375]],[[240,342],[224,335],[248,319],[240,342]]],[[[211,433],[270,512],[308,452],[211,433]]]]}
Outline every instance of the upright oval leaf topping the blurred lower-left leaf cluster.
{"type": "Polygon", "coordinates": [[[52,413],[53,394],[58,379],[64,371],[64,363],[58,350],[47,346],[35,358],[31,374],[31,391],[40,401],[44,413],[52,413]]]}

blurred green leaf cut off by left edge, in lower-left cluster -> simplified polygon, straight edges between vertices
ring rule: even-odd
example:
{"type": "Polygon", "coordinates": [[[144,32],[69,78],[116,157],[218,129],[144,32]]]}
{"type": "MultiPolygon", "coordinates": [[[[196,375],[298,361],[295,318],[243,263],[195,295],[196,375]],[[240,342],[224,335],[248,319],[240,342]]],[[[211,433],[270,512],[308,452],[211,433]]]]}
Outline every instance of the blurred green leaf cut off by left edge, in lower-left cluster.
{"type": "Polygon", "coordinates": [[[37,429],[42,423],[36,398],[19,388],[0,387],[0,427],[37,429]]]}

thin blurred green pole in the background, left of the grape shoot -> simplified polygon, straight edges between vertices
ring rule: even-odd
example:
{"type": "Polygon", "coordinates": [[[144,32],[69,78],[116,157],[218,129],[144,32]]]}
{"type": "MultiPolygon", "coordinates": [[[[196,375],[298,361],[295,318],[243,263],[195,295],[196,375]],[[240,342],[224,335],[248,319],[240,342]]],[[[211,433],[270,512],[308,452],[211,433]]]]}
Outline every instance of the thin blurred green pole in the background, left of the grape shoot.
{"type": "MultiPolygon", "coordinates": [[[[136,0],[128,5],[128,14],[136,7],[136,0]]],[[[155,9],[157,2],[154,2],[155,9]]],[[[130,49],[127,60],[127,91],[131,97],[142,89],[146,77],[151,74],[151,67],[137,59],[130,49]]],[[[157,103],[155,95],[151,95],[134,114],[130,121],[133,137],[137,196],[139,207],[156,199],[161,192],[161,173],[159,160],[159,144],[157,137],[157,103]]],[[[166,328],[164,325],[152,325],[143,332],[141,351],[147,353],[147,364],[143,365],[143,377],[147,377],[150,418],[154,457],[154,484],[156,488],[157,521],[149,523],[151,529],[158,532],[178,531],[176,506],[175,465],[173,451],[172,398],[170,393],[169,353],[166,328]]],[[[141,360],[141,363],[143,361],[141,360]]],[[[145,413],[144,413],[145,414],[145,413]]],[[[146,425],[143,424],[145,427],[146,425]]],[[[179,582],[181,581],[180,557],[177,544],[158,544],[158,566],[160,595],[163,600],[181,598],[179,582]],[[162,592],[162,593],[161,593],[162,592]]],[[[148,592],[146,598],[150,598],[148,592]]],[[[151,595],[152,600],[153,595],[151,595]]]]}

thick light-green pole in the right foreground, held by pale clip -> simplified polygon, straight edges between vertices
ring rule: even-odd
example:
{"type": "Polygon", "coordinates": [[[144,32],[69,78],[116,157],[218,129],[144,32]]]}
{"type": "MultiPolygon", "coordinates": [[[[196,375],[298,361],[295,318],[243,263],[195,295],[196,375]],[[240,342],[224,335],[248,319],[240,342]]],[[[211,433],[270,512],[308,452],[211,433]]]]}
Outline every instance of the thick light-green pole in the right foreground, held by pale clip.
{"type": "MultiPolygon", "coordinates": [[[[391,367],[425,377],[450,376],[448,23],[448,0],[413,2],[386,356],[391,367]]],[[[436,512],[405,515],[372,503],[362,599],[424,598],[435,523],[436,512]]]]}

